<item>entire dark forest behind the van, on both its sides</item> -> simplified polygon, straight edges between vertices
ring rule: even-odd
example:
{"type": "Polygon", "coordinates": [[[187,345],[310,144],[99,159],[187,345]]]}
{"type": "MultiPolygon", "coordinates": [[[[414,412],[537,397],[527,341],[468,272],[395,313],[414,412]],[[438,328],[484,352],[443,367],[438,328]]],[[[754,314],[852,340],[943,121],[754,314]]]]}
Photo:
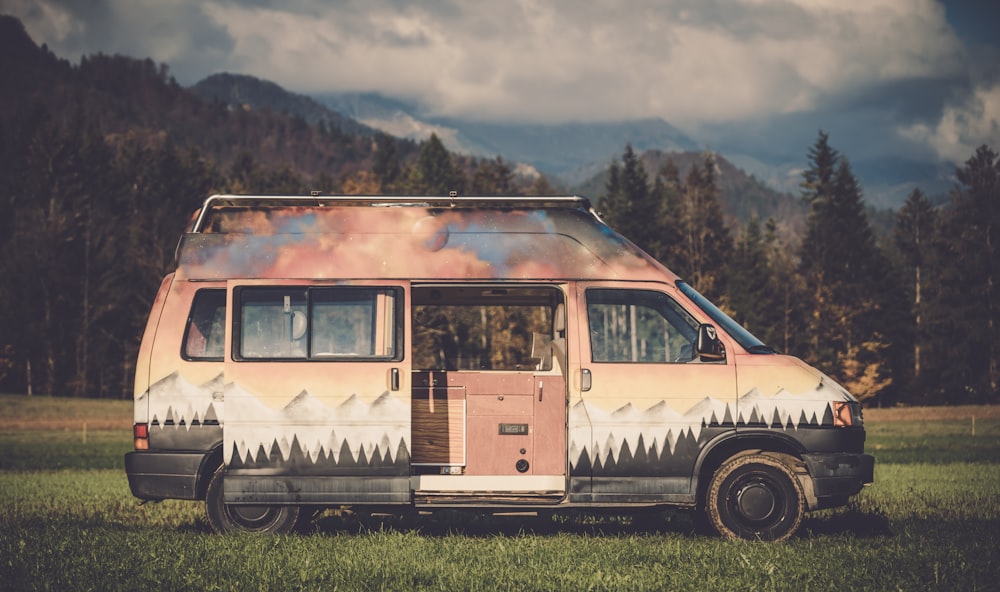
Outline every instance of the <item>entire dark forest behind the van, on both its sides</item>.
{"type": "MultiPolygon", "coordinates": [[[[127,397],[152,297],[212,193],[552,194],[502,158],[377,134],[367,166],[307,175],[249,152],[219,164],[169,134],[103,134],[44,109],[0,127],[0,390],[127,397]]],[[[598,209],[609,224],[778,350],[874,404],[998,400],[1000,159],[979,148],[950,201],[918,189],[872,230],[850,163],[820,133],[805,234],[727,224],[715,160],[654,174],[627,146],[598,209]]]]}

